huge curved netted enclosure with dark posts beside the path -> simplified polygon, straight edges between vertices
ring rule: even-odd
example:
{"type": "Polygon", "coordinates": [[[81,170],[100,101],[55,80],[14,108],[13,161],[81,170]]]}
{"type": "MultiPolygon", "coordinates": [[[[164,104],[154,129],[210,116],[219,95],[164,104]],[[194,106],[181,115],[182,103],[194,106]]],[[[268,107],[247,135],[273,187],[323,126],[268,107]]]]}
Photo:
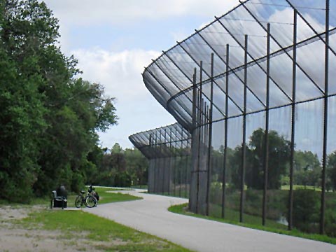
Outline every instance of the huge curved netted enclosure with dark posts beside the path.
{"type": "Polygon", "coordinates": [[[130,137],[151,160],[150,192],[188,196],[200,214],[328,232],[335,26],[336,1],[240,1],[153,60],[144,83],[178,124],[130,137]]]}

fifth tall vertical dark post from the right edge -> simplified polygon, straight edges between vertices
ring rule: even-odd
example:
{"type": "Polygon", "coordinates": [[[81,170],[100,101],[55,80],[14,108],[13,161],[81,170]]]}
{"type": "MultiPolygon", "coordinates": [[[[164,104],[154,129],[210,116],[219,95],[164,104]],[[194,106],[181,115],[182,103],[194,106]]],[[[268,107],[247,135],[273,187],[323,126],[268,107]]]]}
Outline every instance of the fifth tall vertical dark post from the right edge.
{"type": "Polygon", "coordinates": [[[223,181],[222,181],[222,218],[225,218],[225,188],[226,188],[226,164],[228,159],[228,113],[229,113],[229,61],[230,61],[230,45],[226,45],[226,91],[225,91],[225,126],[224,126],[224,160],[223,160],[223,181]]]}

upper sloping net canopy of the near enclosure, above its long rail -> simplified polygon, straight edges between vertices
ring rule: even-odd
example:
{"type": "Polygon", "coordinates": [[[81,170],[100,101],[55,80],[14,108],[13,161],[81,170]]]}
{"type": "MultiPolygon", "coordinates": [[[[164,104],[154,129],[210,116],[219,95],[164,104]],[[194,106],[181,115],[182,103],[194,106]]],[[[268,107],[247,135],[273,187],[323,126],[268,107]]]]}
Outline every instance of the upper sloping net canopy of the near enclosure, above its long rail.
{"type": "MultiPolygon", "coordinates": [[[[330,62],[335,62],[336,3],[330,3],[330,62]]],[[[249,0],[221,18],[178,42],[155,59],[143,73],[144,83],[155,99],[176,120],[192,130],[193,75],[210,104],[210,83],[214,81],[213,120],[223,120],[244,113],[244,80],[247,79],[246,113],[266,109],[267,94],[267,25],[269,24],[269,108],[293,102],[293,17],[297,13],[295,47],[297,56],[296,102],[325,95],[324,47],[325,0],[249,0]],[[227,57],[229,50],[230,53],[227,57]],[[248,50],[246,59],[245,51],[248,50]],[[211,54],[214,67],[211,69],[211,54]],[[230,58],[230,62],[228,62],[230,58]],[[202,63],[201,63],[202,62],[202,63]],[[202,74],[200,66],[202,64],[202,74]],[[228,67],[227,67],[228,66],[228,67]],[[247,78],[244,76],[248,68],[247,78]],[[225,113],[225,78],[229,76],[229,102],[225,113]],[[202,76],[202,77],[201,77],[202,76]]],[[[330,73],[335,76],[335,69],[330,73]]],[[[335,93],[335,87],[329,94],[335,93]]]]}

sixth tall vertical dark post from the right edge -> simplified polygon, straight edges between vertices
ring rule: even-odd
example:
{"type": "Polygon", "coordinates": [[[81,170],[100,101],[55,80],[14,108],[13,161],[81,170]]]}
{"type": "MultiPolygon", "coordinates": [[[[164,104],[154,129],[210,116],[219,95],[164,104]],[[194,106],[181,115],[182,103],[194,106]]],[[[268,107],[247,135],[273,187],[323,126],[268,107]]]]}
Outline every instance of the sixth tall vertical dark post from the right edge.
{"type": "Polygon", "coordinates": [[[210,184],[211,184],[211,150],[212,150],[212,117],[214,109],[214,53],[211,53],[211,83],[210,83],[210,110],[209,110],[209,137],[208,137],[208,174],[207,174],[207,211],[209,216],[210,207],[210,184]]]}

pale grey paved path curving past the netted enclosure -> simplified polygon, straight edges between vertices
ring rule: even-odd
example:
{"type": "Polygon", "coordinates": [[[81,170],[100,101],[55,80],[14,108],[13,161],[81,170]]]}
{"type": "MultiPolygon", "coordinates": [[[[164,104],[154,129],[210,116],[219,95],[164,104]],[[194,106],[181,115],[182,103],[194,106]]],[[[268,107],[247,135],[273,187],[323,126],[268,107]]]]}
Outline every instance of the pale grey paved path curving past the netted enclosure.
{"type": "Polygon", "coordinates": [[[101,204],[84,211],[179,244],[193,251],[223,252],[336,252],[336,246],[272,232],[253,230],[167,211],[186,199],[120,191],[144,198],[101,204]]]}

